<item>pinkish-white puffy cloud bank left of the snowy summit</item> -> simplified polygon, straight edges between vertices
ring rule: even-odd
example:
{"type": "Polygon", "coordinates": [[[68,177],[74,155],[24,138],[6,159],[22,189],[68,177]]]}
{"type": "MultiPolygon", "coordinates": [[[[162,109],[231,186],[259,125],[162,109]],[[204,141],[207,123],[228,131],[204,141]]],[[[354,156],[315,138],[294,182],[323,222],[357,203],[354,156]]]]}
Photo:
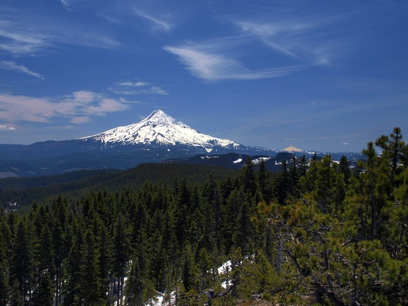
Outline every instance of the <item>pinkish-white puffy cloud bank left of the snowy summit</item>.
{"type": "Polygon", "coordinates": [[[124,111],[134,103],[138,102],[113,99],[92,91],[77,91],[55,98],[0,94],[0,119],[52,122],[54,118],[65,117],[72,123],[81,124],[91,121],[93,116],[124,111]]]}

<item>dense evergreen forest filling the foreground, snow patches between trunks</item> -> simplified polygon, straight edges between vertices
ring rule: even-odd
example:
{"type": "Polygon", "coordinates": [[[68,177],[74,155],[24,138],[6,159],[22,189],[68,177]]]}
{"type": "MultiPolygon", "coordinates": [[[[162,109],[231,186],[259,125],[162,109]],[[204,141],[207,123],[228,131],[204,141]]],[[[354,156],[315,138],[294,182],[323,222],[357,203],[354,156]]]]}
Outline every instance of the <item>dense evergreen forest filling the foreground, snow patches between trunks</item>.
{"type": "Polygon", "coordinates": [[[3,210],[0,304],[143,305],[159,291],[166,305],[171,292],[177,305],[254,294],[279,305],[407,305],[408,146],[395,127],[363,154],[354,168],[345,157],[292,157],[273,173],[248,160],[238,176],[3,210]]]}

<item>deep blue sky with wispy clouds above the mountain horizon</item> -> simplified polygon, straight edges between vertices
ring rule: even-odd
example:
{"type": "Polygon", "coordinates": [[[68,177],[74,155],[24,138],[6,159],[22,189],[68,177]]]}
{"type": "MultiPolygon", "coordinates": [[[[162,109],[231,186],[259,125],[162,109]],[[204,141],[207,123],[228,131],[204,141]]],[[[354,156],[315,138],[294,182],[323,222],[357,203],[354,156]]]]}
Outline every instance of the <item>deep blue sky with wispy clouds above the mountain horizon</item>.
{"type": "Polygon", "coordinates": [[[3,0],[0,143],[93,135],[162,109],[282,149],[408,139],[406,1],[3,0]]]}

